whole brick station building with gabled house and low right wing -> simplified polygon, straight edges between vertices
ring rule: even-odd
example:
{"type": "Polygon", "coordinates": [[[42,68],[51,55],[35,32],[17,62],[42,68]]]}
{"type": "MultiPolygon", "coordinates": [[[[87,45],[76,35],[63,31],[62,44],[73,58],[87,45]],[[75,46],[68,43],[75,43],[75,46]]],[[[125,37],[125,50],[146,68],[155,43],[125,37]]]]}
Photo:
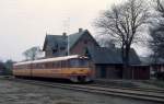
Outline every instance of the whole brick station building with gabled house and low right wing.
{"type": "Polygon", "coordinates": [[[134,49],[130,49],[130,66],[122,68],[121,49],[112,45],[101,47],[87,30],[67,35],[49,35],[45,37],[43,50],[45,58],[67,55],[85,55],[93,62],[97,79],[149,79],[149,66],[141,66],[134,49]],[[68,45],[69,43],[69,45],[68,45]],[[69,53],[68,53],[69,51],[69,53]]]}

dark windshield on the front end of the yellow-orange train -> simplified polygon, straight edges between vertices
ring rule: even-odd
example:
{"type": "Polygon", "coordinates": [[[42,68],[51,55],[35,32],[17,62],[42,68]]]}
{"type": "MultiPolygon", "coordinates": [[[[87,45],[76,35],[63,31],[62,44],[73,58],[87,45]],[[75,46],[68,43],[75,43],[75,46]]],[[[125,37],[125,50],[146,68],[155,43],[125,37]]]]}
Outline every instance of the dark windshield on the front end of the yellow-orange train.
{"type": "Polygon", "coordinates": [[[87,59],[70,59],[69,60],[70,67],[89,67],[87,59]]]}

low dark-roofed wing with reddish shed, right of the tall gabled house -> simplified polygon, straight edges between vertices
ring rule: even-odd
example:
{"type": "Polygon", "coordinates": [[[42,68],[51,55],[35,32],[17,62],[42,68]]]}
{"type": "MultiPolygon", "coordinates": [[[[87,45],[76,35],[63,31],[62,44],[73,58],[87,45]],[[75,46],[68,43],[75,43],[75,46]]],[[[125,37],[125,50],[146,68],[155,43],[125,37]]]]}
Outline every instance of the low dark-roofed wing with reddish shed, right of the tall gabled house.
{"type": "Polygon", "coordinates": [[[91,58],[95,68],[95,77],[98,79],[149,79],[149,66],[141,66],[141,61],[131,48],[130,66],[124,69],[121,49],[116,47],[89,47],[86,55],[91,58]]]}

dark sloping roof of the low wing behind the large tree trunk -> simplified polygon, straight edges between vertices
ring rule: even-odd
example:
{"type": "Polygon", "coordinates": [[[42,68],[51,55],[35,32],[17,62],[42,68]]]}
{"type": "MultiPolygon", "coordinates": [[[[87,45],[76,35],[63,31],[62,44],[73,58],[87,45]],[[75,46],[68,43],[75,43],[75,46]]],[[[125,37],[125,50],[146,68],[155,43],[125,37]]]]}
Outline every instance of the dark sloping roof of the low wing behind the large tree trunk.
{"type": "MultiPolygon", "coordinates": [[[[122,63],[120,48],[89,47],[87,50],[94,63],[122,63]]],[[[130,50],[130,65],[140,65],[134,49],[130,50]]]]}

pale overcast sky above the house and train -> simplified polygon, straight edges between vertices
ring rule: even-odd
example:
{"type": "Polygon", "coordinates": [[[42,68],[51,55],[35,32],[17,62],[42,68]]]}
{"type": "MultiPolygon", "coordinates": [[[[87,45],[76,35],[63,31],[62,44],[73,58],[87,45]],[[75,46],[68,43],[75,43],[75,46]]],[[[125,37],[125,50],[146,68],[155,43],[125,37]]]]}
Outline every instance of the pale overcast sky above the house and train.
{"type": "Polygon", "coordinates": [[[0,0],[0,60],[22,60],[25,49],[43,46],[46,32],[60,35],[67,28],[74,33],[82,27],[95,35],[94,19],[120,1],[0,0]]]}

